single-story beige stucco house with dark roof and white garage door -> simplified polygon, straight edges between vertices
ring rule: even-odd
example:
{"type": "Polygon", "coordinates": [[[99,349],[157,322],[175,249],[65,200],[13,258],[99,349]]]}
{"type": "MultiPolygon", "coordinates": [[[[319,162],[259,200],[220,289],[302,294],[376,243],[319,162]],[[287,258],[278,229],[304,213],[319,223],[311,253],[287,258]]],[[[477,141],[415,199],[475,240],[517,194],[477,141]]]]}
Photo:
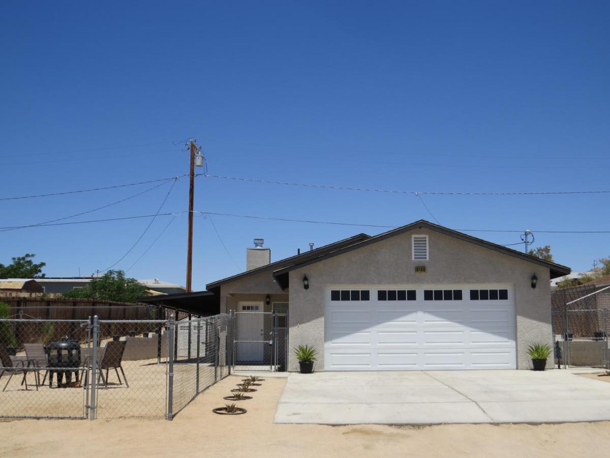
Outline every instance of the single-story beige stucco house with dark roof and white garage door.
{"type": "MultiPolygon", "coordinates": [[[[570,273],[426,220],[274,263],[255,242],[248,271],[207,289],[243,314],[237,340],[266,340],[262,314],[287,312],[290,371],[300,344],[317,371],[528,369],[528,346],[553,344],[550,280],[570,273]]],[[[251,346],[248,360],[265,353],[251,346]]]]}

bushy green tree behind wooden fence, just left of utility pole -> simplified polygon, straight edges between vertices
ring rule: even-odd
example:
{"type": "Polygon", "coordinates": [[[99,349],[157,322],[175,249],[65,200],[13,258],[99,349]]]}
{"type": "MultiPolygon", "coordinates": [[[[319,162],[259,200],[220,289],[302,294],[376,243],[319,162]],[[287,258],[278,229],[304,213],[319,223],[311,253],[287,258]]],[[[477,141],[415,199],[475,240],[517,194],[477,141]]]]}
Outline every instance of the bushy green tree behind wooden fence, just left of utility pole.
{"type": "Polygon", "coordinates": [[[126,278],[123,271],[108,271],[102,277],[93,278],[84,288],[63,293],[71,299],[116,300],[136,302],[137,297],[146,296],[146,287],[135,278],[126,278]]]}

